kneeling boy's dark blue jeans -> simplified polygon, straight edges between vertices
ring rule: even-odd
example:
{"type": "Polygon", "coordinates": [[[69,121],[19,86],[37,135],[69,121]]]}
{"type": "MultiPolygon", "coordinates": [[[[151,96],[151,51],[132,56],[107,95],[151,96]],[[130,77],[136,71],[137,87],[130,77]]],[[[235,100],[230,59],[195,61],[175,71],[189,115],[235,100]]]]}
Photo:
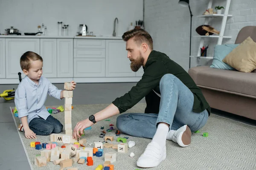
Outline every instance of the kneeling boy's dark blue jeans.
{"type": "Polygon", "coordinates": [[[36,135],[50,135],[51,133],[61,133],[63,125],[60,121],[49,115],[46,120],[43,118],[35,118],[29,122],[29,128],[36,135]]]}

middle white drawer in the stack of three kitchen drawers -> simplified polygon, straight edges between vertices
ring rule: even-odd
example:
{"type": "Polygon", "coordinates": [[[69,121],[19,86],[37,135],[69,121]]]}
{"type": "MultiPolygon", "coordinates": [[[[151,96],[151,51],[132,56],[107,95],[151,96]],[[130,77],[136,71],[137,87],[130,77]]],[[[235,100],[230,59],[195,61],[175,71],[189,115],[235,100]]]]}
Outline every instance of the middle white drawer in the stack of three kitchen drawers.
{"type": "Polygon", "coordinates": [[[105,58],[105,48],[74,48],[74,58],[105,58]]]}

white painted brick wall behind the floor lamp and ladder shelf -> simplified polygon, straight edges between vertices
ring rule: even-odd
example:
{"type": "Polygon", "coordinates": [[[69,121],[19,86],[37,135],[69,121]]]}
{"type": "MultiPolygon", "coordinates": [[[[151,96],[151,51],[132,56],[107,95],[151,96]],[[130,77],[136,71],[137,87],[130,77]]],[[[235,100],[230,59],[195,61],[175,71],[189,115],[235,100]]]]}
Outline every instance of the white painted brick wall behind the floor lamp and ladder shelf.
{"type": "MultiPolygon", "coordinates": [[[[188,7],[178,4],[179,0],[145,0],[145,29],[152,35],[154,49],[169,55],[186,71],[189,69],[189,34],[190,13],[188,7]]],[[[204,24],[204,19],[196,17],[207,9],[208,0],[190,0],[192,17],[192,36],[198,35],[195,29],[204,24]]],[[[225,6],[226,0],[213,0],[212,6],[225,6]]],[[[233,17],[227,20],[224,35],[232,36],[222,43],[234,43],[236,36],[244,26],[256,26],[256,0],[231,0],[229,14],[233,17]]],[[[221,18],[212,20],[209,25],[220,30],[221,18]]],[[[208,54],[213,53],[217,39],[209,39],[208,54]]],[[[192,55],[196,55],[199,48],[199,38],[192,37],[192,55]]],[[[196,65],[210,65],[212,60],[192,59],[191,67],[196,65]]]]}

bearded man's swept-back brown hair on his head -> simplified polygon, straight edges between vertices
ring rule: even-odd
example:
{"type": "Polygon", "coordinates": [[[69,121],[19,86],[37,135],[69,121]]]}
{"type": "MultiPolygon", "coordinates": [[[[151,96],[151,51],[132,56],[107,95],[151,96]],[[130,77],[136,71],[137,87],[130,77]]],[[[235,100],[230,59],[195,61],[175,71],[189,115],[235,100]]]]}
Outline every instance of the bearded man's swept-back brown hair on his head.
{"type": "Polygon", "coordinates": [[[148,34],[147,31],[145,31],[142,28],[135,28],[132,29],[130,31],[126,31],[123,35],[122,35],[122,39],[124,41],[128,41],[131,38],[134,39],[134,42],[137,45],[141,45],[143,42],[147,43],[149,48],[151,48],[151,50],[153,50],[153,39],[150,36],[150,34],[148,34]]]}

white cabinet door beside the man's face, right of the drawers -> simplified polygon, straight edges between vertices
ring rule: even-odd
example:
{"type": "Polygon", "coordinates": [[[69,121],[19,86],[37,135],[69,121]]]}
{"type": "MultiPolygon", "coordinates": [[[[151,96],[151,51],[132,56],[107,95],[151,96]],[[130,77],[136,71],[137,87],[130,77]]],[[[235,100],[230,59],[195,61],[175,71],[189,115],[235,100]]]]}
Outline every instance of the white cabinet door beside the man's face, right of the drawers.
{"type": "Polygon", "coordinates": [[[125,41],[106,40],[106,77],[135,77],[130,64],[125,41]]]}

